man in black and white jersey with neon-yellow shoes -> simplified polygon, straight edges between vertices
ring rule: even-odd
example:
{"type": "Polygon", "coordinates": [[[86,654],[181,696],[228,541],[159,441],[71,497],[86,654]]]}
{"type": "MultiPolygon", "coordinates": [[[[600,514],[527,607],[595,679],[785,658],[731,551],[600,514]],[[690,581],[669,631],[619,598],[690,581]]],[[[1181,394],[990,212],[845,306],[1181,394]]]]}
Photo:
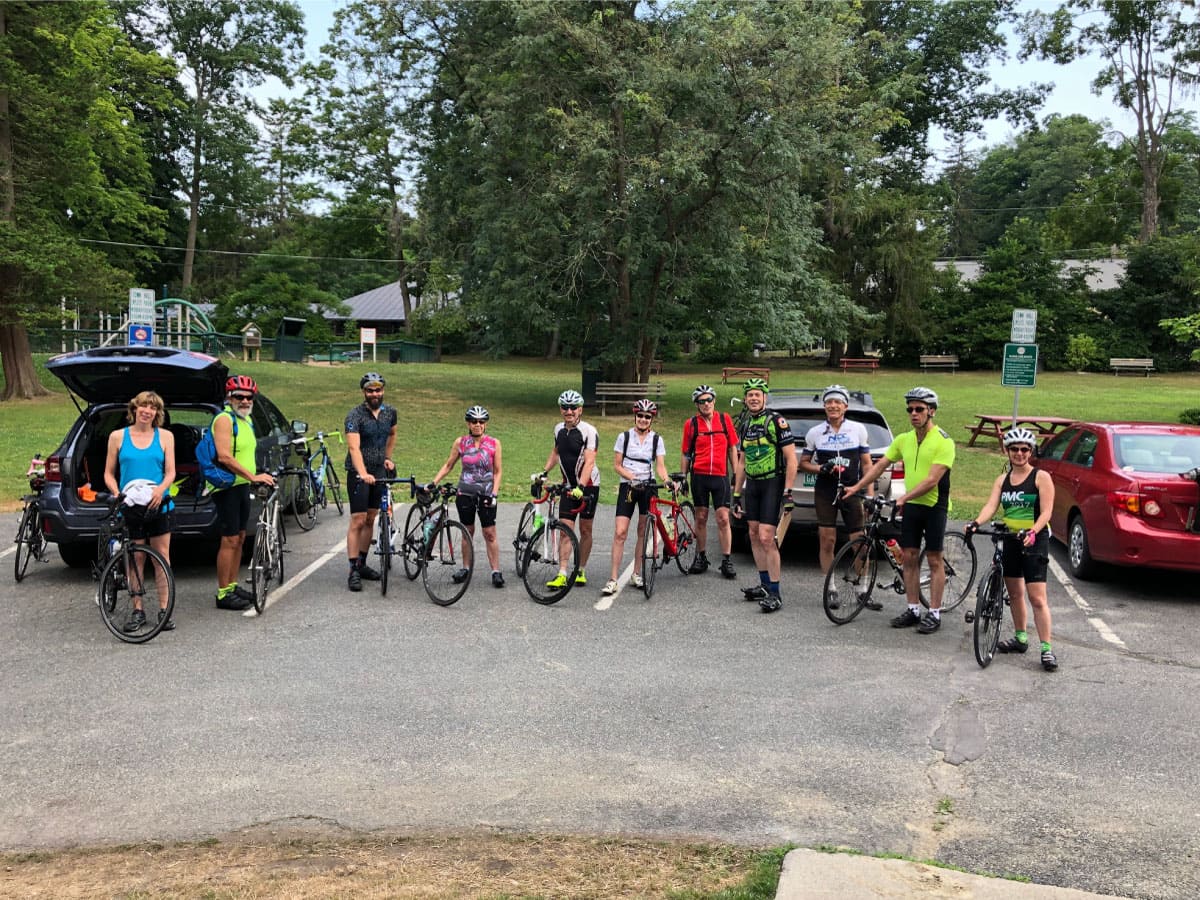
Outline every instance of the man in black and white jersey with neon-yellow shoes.
{"type": "MultiPolygon", "coordinates": [[[[592,554],[592,520],[595,518],[596,502],[600,499],[600,468],[596,466],[600,433],[583,421],[583,395],[578,391],[565,390],[559,394],[558,410],[563,421],[554,426],[554,446],[546,457],[546,464],[541,467],[541,474],[548,475],[558,466],[563,479],[571,486],[574,503],[563,503],[558,515],[568,527],[575,524],[576,515],[580,517],[580,571],[575,576],[575,584],[582,587],[588,583],[583,569],[592,554]]],[[[563,541],[560,552],[559,559],[565,563],[571,552],[566,540],[563,541]]],[[[565,584],[566,570],[560,569],[547,587],[560,588],[565,584]]]]}

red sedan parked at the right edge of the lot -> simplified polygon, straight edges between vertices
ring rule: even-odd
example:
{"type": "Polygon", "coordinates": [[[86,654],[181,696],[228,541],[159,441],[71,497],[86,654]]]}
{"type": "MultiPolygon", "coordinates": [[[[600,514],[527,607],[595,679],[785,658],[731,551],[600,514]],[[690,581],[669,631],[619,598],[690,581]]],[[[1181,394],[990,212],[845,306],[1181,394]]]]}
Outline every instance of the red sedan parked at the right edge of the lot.
{"type": "Polygon", "coordinates": [[[1076,422],[1043,446],[1054,480],[1050,527],[1070,571],[1097,563],[1200,571],[1200,427],[1160,422],[1076,422]]]}

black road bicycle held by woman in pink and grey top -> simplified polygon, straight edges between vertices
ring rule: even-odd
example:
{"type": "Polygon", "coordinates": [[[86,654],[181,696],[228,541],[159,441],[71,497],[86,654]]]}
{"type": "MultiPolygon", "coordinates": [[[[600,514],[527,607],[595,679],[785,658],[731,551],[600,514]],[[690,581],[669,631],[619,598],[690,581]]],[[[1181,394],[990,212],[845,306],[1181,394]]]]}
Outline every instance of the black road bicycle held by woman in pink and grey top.
{"type": "Polygon", "coordinates": [[[458,488],[444,485],[414,485],[416,503],[404,521],[401,551],[409,581],[421,576],[425,593],[438,606],[450,606],[467,593],[475,574],[475,548],[467,526],[450,515],[450,502],[458,488]]]}

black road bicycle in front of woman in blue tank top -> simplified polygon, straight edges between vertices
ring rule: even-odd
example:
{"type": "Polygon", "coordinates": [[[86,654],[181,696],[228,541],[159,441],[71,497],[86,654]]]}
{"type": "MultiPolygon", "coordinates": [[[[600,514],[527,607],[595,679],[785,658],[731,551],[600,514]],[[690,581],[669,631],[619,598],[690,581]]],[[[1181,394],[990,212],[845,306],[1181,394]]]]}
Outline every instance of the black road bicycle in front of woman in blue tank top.
{"type": "Polygon", "coordinates": [[[162,631],[175,610],[175,575],[149,544],[130,540],[125,494],[98,493],[108,517],[97,538],[96,604],[104,626],[126,643],[145,643],[162,631]],[[102,550],[101,550],[102,548],[102,550]],[[146,566],[150,577],[146,577],[146,566]],[[166,593],[166,602],[163,594],[166,593]]]}

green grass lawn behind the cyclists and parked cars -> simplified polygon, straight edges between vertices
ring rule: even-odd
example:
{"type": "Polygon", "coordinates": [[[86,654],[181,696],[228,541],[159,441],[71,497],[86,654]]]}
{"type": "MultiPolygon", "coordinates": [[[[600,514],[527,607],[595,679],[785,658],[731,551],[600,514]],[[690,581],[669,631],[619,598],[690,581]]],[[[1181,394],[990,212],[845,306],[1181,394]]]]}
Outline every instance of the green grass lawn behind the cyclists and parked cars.
{"type": "MultiPolygon", "coordinates": [[[[0,404],[0,509],[19,508],[18,497],[26,490],[24,479],[35,452],[48,455],[66,433],[77,412],[61,383],[42,367],[42,382],[55,395],[35,401],[0,404]]],[[[919,371],[887,370],[842,376],[828,368],[804,366],[793,360],[763,360],[772,366],[776,388],[822,388],[841,382],[854,390],[868,390],[888,418],[893,431],[907,428],[904,392],[916,384],[936,390],[941,397],[937,424],[959,443],[952,479],[954,517],[977,512],[986,499],[1003,457],[995,442],[982,440],[967,448],[964,426],[976,413],[1010,413],[1013,389],[1000,385],[998,372],[922,374],[919,371]]],[[[232,371],[253,376],[283,413],[305,419],[313,428],[341,428],[346,412],[359,402],[359,377],[376,368],[388,379],[388,402],[400,409],[400,437],[396,463],[400,474],[431,479],[445,461],[450,444],[464,433],[463,413],[480,403],[492,415],[488,428],[504,449],[502,499],[518,500],[528,494],[529,473],[540,470],[550,451],[553,426],[559,421],[557,398],[566,388],[580,388],[577,361],[456,356],[443,362],[300,365],[230,362],[232,371]]],[[[679,436],[684,420],[692,415],[691,391],[701,383],[716,389],[718,404],[730,409],[730,398],[740,396],[739,384],[722,385],[720,366],[668,362],[661,380],[666,383],[665,406],[658,430],[667,437],[667,466],[679,462],[679,436]]],[[[1039,373],[1036,388],[1021,390],[1022,414],[1079,419],[1133,419],[1178,421],[1181,410],[1200,406],[1200,377],[1157,374],[1152,378],[1098,373],[1039,373]]],[[[600,466],[605,486],[602,500],[616,499],[616,475],[611,450],[617,434],[632,421],[628,415],[601,419],[598,410],[584,413],[600,430],[600,466]]]]}

